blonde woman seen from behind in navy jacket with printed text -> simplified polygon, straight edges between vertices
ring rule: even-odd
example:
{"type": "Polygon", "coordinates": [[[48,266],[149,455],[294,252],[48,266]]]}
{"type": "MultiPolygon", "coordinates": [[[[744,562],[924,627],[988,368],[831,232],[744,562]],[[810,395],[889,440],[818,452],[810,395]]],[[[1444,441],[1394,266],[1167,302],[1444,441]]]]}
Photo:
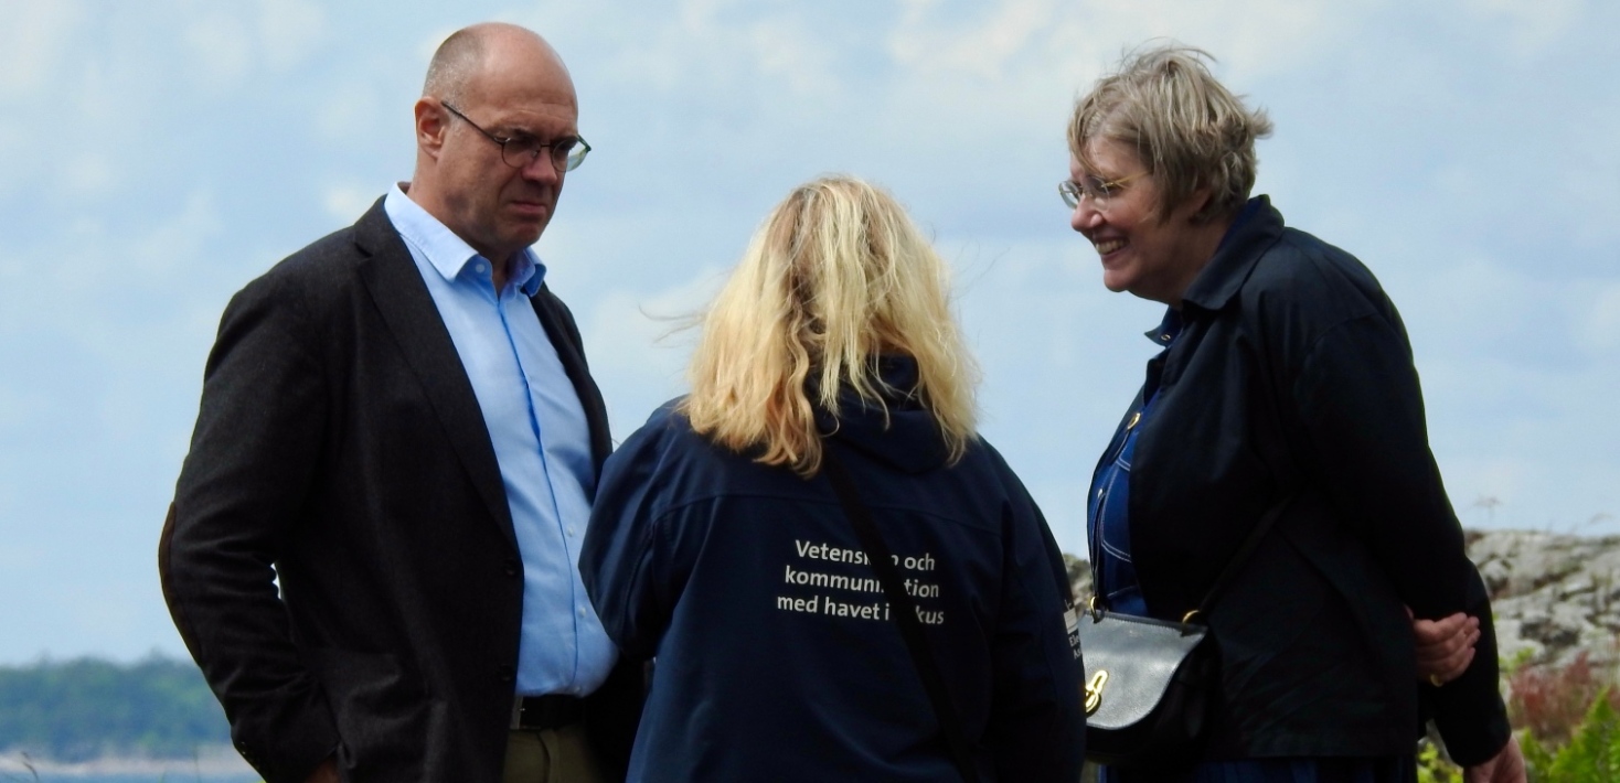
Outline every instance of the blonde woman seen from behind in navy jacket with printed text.
{"type": "Polygon", "coordinates": [[[624,655],[658,658],[633,781],[961,780],[829,458],[893,552],[977,780],[1079,775],[1068,579],[974,432],[946,267],[894,199],[823,178],[710,306],[692,393],[608,461],[580,555],[624,655]]]}

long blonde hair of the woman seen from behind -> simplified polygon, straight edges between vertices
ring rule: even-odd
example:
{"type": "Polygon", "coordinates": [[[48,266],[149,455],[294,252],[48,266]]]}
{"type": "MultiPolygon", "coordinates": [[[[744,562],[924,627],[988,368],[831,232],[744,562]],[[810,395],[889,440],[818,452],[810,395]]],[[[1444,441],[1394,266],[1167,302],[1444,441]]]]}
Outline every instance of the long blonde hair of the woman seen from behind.
{"type": "Polygon", "coordinates": [[[978,367],[951,314],[944,262],[888,193],[852,176],[795,188],[753,235],[701,320],[680,404],[692,429],[765,464],[815,476],[815,409],[839,388],[888,409],[881,354],[917,361],[910,393],[951,461],[974,438],[978,367]]]}

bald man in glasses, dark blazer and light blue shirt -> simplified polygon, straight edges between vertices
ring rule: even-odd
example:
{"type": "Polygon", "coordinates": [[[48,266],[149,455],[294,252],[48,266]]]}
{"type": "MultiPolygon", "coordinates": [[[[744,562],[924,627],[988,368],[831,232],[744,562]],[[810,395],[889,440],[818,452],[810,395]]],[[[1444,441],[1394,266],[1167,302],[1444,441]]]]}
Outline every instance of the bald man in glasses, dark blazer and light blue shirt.
{"type": "Polygon", "coordinates": [[[225,309],[159,571],[269,783],[624,777],[642,683],[577,568],[608,416],[530,249],[577,120],[539,36],[450,36],[411,181],[225,309]]]}

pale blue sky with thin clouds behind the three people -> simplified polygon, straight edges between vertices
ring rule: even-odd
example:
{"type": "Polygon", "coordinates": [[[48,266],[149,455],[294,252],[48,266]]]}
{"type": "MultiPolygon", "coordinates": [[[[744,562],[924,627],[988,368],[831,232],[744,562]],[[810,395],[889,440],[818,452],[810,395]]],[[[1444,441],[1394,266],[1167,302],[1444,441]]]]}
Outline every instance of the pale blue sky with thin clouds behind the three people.
{"type": "Polygon", "coordinates": [[[855,173],[953,262],[983,432],[1084,552],[1160,307],[1069,231],[1063,128],[1168,36],[1272,113],[1256,191],[1400,306],[1464,524],[1620,531],[1610,2],[0,0],[0,663],[183,654],[156,545],[219,314],[410,176],[428,57],[481,19],[580,91],[596,150],[538,251],[620,438],[682,388],[669,317],[855,173]]]}

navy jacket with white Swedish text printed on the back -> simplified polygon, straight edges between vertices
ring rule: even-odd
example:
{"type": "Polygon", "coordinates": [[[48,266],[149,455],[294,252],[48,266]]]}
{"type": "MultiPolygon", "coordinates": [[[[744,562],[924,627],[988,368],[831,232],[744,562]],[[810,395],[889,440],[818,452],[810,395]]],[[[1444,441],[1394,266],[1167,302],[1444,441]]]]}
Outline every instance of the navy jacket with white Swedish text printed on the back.
{"type": "MultiPolygon", "coordinates": [[[[885,377],[909,388],[915,364],[885,377]]],[[[902,398],[888,429],[842,413],[826,443],[901,560],[980,780],[1072,783],[1079,662],[1040,510],[982,440],[946,466],[902,398]]],[[[714,447],[666,406],[608,459],[580,573],[622,654],[658,658],[629,780],[959,780],[825,476],[714,447]]]]}

